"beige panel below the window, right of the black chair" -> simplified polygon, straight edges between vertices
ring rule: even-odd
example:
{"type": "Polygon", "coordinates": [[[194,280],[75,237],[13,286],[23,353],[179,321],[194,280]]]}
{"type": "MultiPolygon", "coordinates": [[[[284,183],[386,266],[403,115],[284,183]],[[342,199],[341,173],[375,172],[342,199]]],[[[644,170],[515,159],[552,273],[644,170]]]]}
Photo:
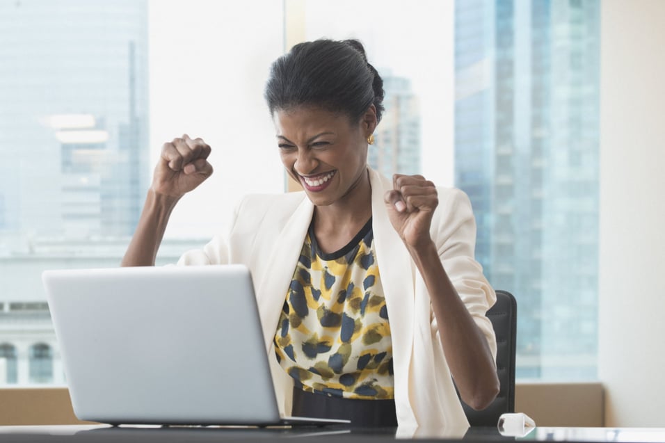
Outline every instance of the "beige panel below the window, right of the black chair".
{"type": "Polygon", "coordinates": [[[604,389],[600,383],[518,383],[515,412],[536,426],[604,426],[604,389]]]}

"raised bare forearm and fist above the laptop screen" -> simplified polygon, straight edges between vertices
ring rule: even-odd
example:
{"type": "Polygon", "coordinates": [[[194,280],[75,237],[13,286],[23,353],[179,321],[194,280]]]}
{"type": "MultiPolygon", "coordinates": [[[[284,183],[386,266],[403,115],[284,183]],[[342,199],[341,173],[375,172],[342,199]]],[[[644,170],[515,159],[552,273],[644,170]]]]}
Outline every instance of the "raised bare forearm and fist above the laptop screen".
{"type": "Polygon", "coordinates": [[[209,145],[187,134],[164,143],[141,218],[120,266],[154,266],[171,211],[183,195],[212,174],[209,155],[209,145]]]}

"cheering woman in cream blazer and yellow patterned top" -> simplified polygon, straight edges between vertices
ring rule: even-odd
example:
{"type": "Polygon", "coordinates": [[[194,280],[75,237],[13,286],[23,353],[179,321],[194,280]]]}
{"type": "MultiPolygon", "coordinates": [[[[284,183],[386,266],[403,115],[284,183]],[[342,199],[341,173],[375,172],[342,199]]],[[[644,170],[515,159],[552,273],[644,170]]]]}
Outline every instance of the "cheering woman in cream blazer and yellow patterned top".
{"type": "MultiPolygon", "coordinates": [[[[179,264],[246,264],[282,412],[361,426],[467,424],[499,382],[485,316],[495,294],[473,259],[461,191],[367,166],[383,81],[360,42],[296,45],[266,101],[303,192],[250,195],[227,238],[179,264]],[[454,380],[454,382],[453,382],[454,380]]],[[[154,264],[170,211],[212,173],[200,138],[163,146],[123,266],[154,264]]]]}

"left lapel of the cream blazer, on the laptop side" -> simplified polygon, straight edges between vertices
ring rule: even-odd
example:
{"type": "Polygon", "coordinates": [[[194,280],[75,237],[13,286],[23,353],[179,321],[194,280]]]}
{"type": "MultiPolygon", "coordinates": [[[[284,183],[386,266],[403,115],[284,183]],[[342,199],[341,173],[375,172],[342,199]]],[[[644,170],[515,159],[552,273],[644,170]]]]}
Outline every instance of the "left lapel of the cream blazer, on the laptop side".
{"type": "Polygon", "coordinates": [[[287,298],[287,289],[303,250],[313,211],[314,205],[303,195],[303,201],[282,227],[273,249],[269,252],[262,278],[257,284],[257,303],[267,350],[275,338],[282,305],[287,298]]]}

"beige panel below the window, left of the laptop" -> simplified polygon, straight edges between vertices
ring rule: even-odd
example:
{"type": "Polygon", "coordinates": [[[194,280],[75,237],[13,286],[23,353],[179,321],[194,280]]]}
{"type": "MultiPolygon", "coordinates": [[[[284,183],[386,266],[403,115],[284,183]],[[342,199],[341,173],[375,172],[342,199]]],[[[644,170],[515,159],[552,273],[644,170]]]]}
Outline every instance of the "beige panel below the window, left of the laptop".
{"type": "Polygon", "coordinates": [[[0,389],[0,425],[89,423],[74,416],[65,387],[0,389]]]}

